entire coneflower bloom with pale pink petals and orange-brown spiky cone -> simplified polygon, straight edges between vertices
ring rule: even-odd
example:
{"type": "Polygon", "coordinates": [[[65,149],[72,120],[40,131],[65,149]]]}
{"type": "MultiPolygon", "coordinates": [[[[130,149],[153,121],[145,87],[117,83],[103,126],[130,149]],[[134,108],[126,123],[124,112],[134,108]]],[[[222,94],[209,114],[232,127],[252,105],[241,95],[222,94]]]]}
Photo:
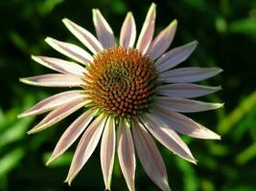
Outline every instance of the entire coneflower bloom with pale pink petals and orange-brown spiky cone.
{"type": "Polygon", "coordinates": [[[50,96],[18,117],[51,111],[29,134],[37,133],[83,108],[59,138],[47,165],[58,159],[81,135],[65,181],[69,184],[81,171],[101,140],[101,165],[105,189],[110,190],[115,151],[129,190],[135,190],[135,151],[147,175],[162,190],[170,190],[166,167],[152,137],[188,161],[196,163],[187,145],[176,134],[193,138],[219,139],[220,136],[180,113],[220,108],[221,103],[194,100],[220,87],[194,82],[221,72],[219,68],[184,67],[173,69],[195,50],[198,42],[168,51],[177,22],[174,20],[153,38],[155,4],[151,4],[136,40],[133,15],[128,12],[119,43],[99,10],[93,10],[96,36],[71,20],[63,23],[86,47],[50,37],[46,42],[76,62],[55,57],[35,56],[39,64],[58,74],[21,78],[24,83],[45,87],[76,87],[50,96]],[[116,133],[117,132],[117,133],[116,133]]]}

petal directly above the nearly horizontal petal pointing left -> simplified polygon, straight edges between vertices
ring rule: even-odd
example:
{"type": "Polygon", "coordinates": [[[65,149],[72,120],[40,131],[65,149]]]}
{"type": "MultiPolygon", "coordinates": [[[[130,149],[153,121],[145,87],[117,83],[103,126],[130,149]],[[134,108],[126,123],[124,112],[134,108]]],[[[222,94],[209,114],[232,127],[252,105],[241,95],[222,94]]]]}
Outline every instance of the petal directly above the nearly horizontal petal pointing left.
{"type": "Polygon", "coordinates": [[[83,76],[85,71],[81,65],[55,57],[32,55],[32,59],[34,59],[35,62],[62,74],[75,74],[83,76]]]}

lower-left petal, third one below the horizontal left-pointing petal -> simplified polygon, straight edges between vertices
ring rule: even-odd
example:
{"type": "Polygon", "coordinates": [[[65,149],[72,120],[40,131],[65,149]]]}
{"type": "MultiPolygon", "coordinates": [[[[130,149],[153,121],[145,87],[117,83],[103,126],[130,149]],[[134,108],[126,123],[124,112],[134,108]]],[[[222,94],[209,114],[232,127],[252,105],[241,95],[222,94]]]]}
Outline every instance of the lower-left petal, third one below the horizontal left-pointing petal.
{"type": "Polygon", "coordinates": [[[87,110],[81,117],[78,117],[59,138],[53,154],[48,159],[46,165],[58,159],[76,140],[93,118],[93,111],[87,110]]]}

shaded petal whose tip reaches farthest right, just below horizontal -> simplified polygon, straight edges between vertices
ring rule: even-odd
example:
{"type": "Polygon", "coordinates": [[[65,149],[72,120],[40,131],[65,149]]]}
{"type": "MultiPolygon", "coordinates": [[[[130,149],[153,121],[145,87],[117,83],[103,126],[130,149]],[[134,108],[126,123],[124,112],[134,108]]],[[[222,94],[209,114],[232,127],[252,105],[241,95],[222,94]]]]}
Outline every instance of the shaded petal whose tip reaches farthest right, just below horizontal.
{"type": "Polygon", "coordinates": [[[169,110],[181,113],[194,113],[208,110],[215,110],[223,106],[222,103],[203,102],[198,100],[169,97],[169,96],[156,96],[155,105],[169,108],[169,110]]]}

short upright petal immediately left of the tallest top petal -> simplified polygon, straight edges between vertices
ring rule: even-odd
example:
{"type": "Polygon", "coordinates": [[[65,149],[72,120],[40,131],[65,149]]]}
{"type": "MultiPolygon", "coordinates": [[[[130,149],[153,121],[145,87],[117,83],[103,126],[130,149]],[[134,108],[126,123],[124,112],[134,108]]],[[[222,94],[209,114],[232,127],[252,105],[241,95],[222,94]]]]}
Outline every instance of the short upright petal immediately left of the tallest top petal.
{"type": "Polygon", "coordinates": [[[124,24],[120,33],[120,46],[121,47],[133,47],[136,39],[136,25],[131,12],[128,12],[128,15],[124,21],[124,24]]]}

